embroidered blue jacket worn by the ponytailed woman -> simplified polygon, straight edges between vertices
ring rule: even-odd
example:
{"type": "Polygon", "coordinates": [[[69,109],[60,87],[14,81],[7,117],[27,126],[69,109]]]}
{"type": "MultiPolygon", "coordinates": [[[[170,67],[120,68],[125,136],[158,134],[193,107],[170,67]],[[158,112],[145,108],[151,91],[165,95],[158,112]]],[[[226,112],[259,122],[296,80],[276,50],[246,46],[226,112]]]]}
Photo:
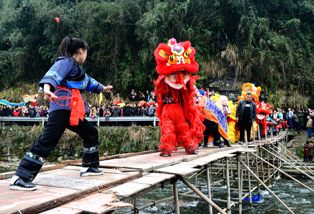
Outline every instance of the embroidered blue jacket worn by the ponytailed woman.
{"type": "MultiPolygon", "coordinates": [[[[69,58],[63,56],[56,59],[55,64],[52,65],[52,67],[48,70],[48,72],[40,81],[39,86],[44,88],[45,83],[49,83],[51,85],[50,91],[53,93],[57,91],[57,86],[62,86],[67,88],[77,88],[81,91],[86,90],[100,94],[104,87],[104,85],[100,84],[95,79],[85,74],[81,66],[73,64],[73,59],[72,61],[70,61],[69,58]]],[[[71,94],[66,90],[60,90],[56,93],[56,96],[71,97],[71,94]]],[[[57,99],[57,102],[62,105],[67,105],[70,102],[70,99],[57,99]]],[[[88,106],[85,101],[84,105],[85,112],[89,112],[88,106]]],[[[60,109],[71,111],[70,105],[60,106],[56,102],[50,102],[49,112],[60,109]]]]}

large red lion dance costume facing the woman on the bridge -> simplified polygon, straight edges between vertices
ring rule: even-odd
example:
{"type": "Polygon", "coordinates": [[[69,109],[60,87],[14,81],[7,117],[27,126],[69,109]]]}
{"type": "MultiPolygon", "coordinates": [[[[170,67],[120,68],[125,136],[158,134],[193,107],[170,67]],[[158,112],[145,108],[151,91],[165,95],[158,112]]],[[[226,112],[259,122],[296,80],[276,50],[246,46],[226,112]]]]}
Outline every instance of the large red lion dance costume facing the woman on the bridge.
{"type": "Polygon", "coordinates": [[[189,41],[159,44],[154,51],[159,75],[155,81],[158,123],[161,126],[160,156],[171,156],[177,145],[183,146],[187,154],[198,154],[198,143],[203,139],[204,117],[193,100],[193,84],[198,76],[190,73],[198,71],[194,60],[195,49],[189,41]]]}

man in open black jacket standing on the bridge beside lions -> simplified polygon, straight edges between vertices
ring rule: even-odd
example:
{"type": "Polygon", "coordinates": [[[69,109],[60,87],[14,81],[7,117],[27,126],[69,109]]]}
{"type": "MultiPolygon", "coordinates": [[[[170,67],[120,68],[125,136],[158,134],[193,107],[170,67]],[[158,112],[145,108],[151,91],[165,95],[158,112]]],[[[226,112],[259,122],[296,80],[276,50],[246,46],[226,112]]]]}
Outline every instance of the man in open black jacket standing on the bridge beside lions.
{"type": "Polygon", "coordinates": [[[256,105],[251,101],[252,94],[246,93],[245,100],[241,100],[236,107],[236,121],[240,129],[240,144],[244,144],[244,130],[246,130],[247,141],[251,141],[252,121],[256,121],[256,105]]]}

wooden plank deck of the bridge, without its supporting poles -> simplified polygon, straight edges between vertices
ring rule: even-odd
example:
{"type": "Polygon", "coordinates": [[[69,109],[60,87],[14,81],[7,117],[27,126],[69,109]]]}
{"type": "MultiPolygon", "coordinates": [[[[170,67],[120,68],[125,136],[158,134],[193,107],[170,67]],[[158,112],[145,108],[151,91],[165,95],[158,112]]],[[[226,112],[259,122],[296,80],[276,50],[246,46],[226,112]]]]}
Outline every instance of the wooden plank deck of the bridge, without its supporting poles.
{"type": "MultiPolygon", "coordinates": [[[[186,176],[198,172],[204,165],[232,157],[239,152],[254,152],[255,147],[250,145],[244,148],[243,145],[231,144],[232,147],[218,148],[209,145],[207,148],[199,148],[197,155],[187,155],[184,149],[173,152],[170,157],[160,157],[159,152],[141,153],[139,155],[125,154],[115,156],[100,161],[99,168],[104,171],[103,175],[80,177],[80,164],[48,166],[42,170],[35,180],[36,191],[23,192],[9,190],[12,177],[10,172],[5,177],[6,180],[0,180],[2,194],[0,196],[1,213],[17,213],[17,209],[24,209],[26,206],[33,206],[39,203],[59,198],[80,190],[95,187],[109,181],[123,179],[130,175],[142,173],[143,177],[136,180],[123,183],[121,185],[109,188],[100,193],[72,201],[68,204],[44,211],[44,214],[50,213],[69,213],[76,214],[84,212],[106,213],[117,208],[132,206],[131,204],[120,202],[116,196],[128,197],[139,191],[170,180],[176,175],[186,176]],[[47,170],[49,167],[53,170],[47,170]],[[122,172],[119,169],[128,169],[135,171],[122,172]],[[106,194],[107,192],[113,194],[106,194]]],[[[263,145],[263,143],[261,144],[263,145]]],[[[3,176],[2,176],[3,177],[3,176]]],[[[0,177],[1,179],[1,177],[0,177]]]]}

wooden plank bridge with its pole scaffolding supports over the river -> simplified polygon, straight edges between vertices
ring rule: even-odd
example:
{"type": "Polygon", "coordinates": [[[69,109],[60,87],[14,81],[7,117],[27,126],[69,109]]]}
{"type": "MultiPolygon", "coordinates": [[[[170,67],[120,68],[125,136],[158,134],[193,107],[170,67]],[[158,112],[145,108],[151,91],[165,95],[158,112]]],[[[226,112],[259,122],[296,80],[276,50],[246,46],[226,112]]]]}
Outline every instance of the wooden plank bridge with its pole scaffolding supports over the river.
{"type": "Polygon", "coordinates": [[[209,145],[199,148],[197,155],[187,155],[183,148],[179,148],[167,158],[160,157],[158,150],[100,157],[99,168],[104,174],[89,177],[79,176],[82,160],[61,161],[58,165],[43,166],[33,181],[37,190],[29,192],[9,190],[9,178],[15,172],[7,172],[0,174],[0,213],[114,213],[116,209],[130,207],[127,214],[134,214],[158,203],[172,201],[173,212],[179,214],[179,197],[206,201],[210,214],[231,214],[235,206],[242,213],[242,200],[249,196],[252,207],[252,192],[257,191],[260,195],[260,188],[269,191],[282,206],[294,213],[289,204],[284,204],[268,186],[284,175],[314,192],[281,168],[288,164],[311,180],[314,180],[314,171],[286,149],[287,144],[288,133],[280,132],[276,136],[266,136],[266,140],[254,140],[251,144],[246,140],[244,145],[232,144],[227,148],[209,145]],[[221,168],[217,167],[219,164],[221,168]],[[216,175],[222,174],[218,181],[212,180],[214,170],[216,175]],[[198,186],[198,176],[202,173],[206,174],[207,185],[198,186]],[[195,186],[188,181],[192,178],[195,186]],[[178,180],[191,191],[178,193],[178,180]],[[230,188],[230,181],[237,181],[237,188],[230,188]],[[243,186],[243,181],[248,181],[248,185],[243,186]],[[251,182],[256,183],[254,188],[251,188],[251,182]],[[217,183],[224,183],[226,187],[214,187],[217,183]],[[136,198],[165,185],[172,185],[172,197],[137,206],[136,198]],[[207,195],[201,189],[207,189],[207,195]],[[214,198],[212,189],[224,190],[226,199],[214,198]],[[231,201],[230,190],[238,191],[238,200],[231,201]],[[219,207],[216,201],[226,206],[219,207]]]}

